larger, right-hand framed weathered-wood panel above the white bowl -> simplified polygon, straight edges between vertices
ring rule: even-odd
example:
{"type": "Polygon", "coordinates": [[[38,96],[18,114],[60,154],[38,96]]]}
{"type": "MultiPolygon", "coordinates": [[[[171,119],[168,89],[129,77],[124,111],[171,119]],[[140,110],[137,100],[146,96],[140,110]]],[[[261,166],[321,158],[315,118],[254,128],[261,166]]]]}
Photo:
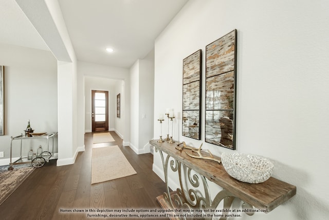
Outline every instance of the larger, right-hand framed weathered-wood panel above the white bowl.
{"type": "Polygon", "coordinates": [[[206,46],[206,142],[235,150],[236,35],[206,46]]]}

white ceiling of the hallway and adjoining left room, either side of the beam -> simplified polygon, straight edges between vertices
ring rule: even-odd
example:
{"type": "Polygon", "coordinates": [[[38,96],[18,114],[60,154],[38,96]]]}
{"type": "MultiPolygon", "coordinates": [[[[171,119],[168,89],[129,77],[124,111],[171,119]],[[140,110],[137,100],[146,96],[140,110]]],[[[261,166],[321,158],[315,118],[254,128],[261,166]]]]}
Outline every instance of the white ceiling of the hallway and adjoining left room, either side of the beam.
{"type": "MultiPolygon", "coordinates": [[[[131,67],[188,0],[58,0],[78,60],[131,67]],[[114,52],[108,53],[106,47],[114,52]]],[[[0,43],[49,50],[12,0],[0,0],[0,43]]]]}

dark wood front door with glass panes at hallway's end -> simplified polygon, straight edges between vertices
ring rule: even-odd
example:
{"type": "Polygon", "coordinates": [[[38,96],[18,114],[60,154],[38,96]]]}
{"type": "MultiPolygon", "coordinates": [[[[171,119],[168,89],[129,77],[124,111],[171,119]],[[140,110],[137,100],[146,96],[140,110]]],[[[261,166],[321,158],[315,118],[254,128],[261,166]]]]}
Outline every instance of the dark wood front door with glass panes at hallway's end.
{"type": "Polygon", "coordinates": [[[92,131],[108,131],[108,91],[92,90],[92,131]]]}

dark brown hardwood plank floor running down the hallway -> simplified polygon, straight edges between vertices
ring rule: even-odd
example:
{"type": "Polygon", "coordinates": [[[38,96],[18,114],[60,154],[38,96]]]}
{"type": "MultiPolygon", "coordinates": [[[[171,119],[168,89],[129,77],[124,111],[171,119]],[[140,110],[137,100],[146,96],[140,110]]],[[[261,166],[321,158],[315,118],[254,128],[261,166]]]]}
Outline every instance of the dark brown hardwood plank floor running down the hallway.
{"type": "Polygon", "coordinates": [[[137,155],[129,146],[122,146],[115,132],[111,134],[115,142],[94,146],[118,145],[136,175],[91,185],[93,134],[87,133],[85,151],[78,154],[75,164],[57,167],[56,160],[50,160],[35,169],[0,206],[0,219],[92,219],[86,213],[60,209],[159,209],[156,197],[166,188],[152,171],[152,154],[137,155]]]}

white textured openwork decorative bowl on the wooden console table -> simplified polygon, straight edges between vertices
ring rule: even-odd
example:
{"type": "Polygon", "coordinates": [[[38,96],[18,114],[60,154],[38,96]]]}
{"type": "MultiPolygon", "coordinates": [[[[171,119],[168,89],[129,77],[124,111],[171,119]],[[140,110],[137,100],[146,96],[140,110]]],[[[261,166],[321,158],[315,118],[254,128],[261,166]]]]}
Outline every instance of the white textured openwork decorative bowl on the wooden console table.
{"type": "Polygon", "coordinates": [[[230,176],[250,184],[259,184],[266,181],[272,175],[274,169],[271,161],[257,155],[223,153],[221,159],[226,172],[230,176]]]}

